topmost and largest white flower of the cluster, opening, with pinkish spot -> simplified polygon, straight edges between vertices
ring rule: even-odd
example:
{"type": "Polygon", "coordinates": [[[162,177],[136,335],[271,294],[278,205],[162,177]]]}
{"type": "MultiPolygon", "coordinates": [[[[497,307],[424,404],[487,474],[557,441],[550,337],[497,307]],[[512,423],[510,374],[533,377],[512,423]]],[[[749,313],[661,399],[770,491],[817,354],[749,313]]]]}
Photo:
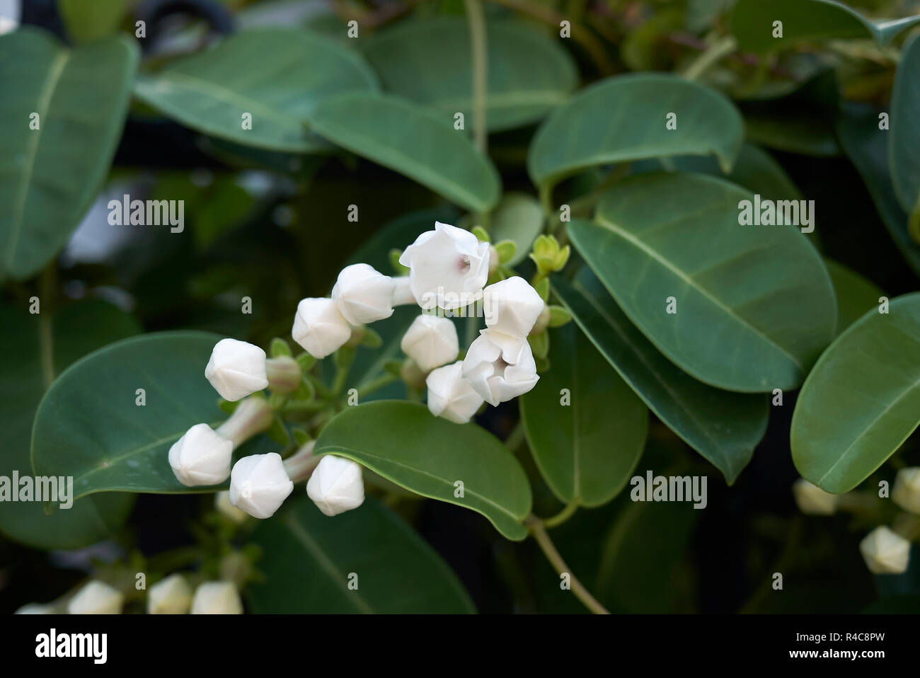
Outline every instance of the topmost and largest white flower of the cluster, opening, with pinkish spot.
{"type": "Polygon", "coordinates": [[[399,263],[409,269],[409,287],[426,309],[453,310],[482,296],[489,279],[489,243],[450,224],[434,223],[406,247],[399,263]]]}

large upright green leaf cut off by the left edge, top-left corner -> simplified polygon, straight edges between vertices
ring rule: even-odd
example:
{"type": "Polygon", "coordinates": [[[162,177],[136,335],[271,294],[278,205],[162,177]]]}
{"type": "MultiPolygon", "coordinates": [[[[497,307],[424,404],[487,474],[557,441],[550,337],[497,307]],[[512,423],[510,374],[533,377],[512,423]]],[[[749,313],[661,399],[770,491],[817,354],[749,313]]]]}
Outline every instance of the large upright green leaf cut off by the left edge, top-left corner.
{"type": "Polygon", "coordinates": [[[0,280],[32,276],[79,224],[109,171],[137,60],[126,38],[68,50],[29,27],[0,37],[0,280]]]}

